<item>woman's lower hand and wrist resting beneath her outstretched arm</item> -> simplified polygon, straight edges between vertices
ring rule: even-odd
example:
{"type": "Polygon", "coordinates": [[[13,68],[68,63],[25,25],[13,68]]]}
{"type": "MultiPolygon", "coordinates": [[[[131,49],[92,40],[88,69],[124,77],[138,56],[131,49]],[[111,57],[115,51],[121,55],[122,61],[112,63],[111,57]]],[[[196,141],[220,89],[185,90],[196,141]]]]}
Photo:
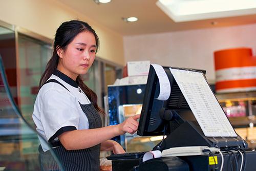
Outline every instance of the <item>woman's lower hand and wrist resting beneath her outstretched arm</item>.
{"type": "Polygon", "coordinates": [[[100,146],[100,151],[113,151],[114,154],[125,153],[123,147],[118,142],[113,140],[106,140],[102,142],[100,146]]]}

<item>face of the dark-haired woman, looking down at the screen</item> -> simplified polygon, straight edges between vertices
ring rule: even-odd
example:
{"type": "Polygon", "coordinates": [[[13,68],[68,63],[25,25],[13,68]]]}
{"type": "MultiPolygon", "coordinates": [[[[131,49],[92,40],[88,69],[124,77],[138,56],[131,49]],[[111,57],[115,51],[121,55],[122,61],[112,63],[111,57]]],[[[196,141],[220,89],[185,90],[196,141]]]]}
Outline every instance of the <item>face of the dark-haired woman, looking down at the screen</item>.
{"type": "Polygon", "coordinates": [[[86,74],[93,64],[96,55],[96,41],[94,34],[83,31],[70,42],[66,50],[59,49],[59,63],[57,69],[76,80],[79,74],[86,74]]]}

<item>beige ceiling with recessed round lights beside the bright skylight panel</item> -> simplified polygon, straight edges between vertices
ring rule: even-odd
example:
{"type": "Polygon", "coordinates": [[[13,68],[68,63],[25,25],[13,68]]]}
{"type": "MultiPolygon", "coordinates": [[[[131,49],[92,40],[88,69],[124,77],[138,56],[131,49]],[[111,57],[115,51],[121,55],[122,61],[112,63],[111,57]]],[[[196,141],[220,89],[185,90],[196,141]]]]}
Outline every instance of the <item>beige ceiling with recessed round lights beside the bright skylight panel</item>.
{"type": "Polygon", "coordinates": [[[124,36],[256,23],[256,14],[175,23],[156,5],[157,0],[112,0],[108,4],[96,4],[93,0],[57,1],[124,36]],[[139,20],[125,23],[121,19],[131,16],[139,20]]]}

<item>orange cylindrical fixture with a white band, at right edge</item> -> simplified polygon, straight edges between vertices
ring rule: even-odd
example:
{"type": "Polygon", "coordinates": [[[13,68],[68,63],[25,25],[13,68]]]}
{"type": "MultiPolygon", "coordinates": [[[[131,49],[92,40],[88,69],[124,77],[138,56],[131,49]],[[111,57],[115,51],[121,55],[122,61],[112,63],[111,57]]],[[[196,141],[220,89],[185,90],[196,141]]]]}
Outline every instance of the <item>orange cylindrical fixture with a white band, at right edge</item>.
{"type": "Polygon", "coordinates": [[[216,92],[256,90],[256,57],[250,48],[214,52],[216,92]]]}

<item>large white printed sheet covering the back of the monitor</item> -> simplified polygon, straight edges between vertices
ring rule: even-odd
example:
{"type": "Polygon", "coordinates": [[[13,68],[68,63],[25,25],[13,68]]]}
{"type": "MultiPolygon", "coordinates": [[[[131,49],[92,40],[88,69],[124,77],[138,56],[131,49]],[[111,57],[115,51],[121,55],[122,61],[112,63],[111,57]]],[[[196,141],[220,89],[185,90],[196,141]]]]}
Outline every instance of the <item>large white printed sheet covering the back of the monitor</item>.
{"type": "Polygon", "coordinates": [[[202,73],[172,68],[170,72],[206,137],[237,137],[202,73]]]}

